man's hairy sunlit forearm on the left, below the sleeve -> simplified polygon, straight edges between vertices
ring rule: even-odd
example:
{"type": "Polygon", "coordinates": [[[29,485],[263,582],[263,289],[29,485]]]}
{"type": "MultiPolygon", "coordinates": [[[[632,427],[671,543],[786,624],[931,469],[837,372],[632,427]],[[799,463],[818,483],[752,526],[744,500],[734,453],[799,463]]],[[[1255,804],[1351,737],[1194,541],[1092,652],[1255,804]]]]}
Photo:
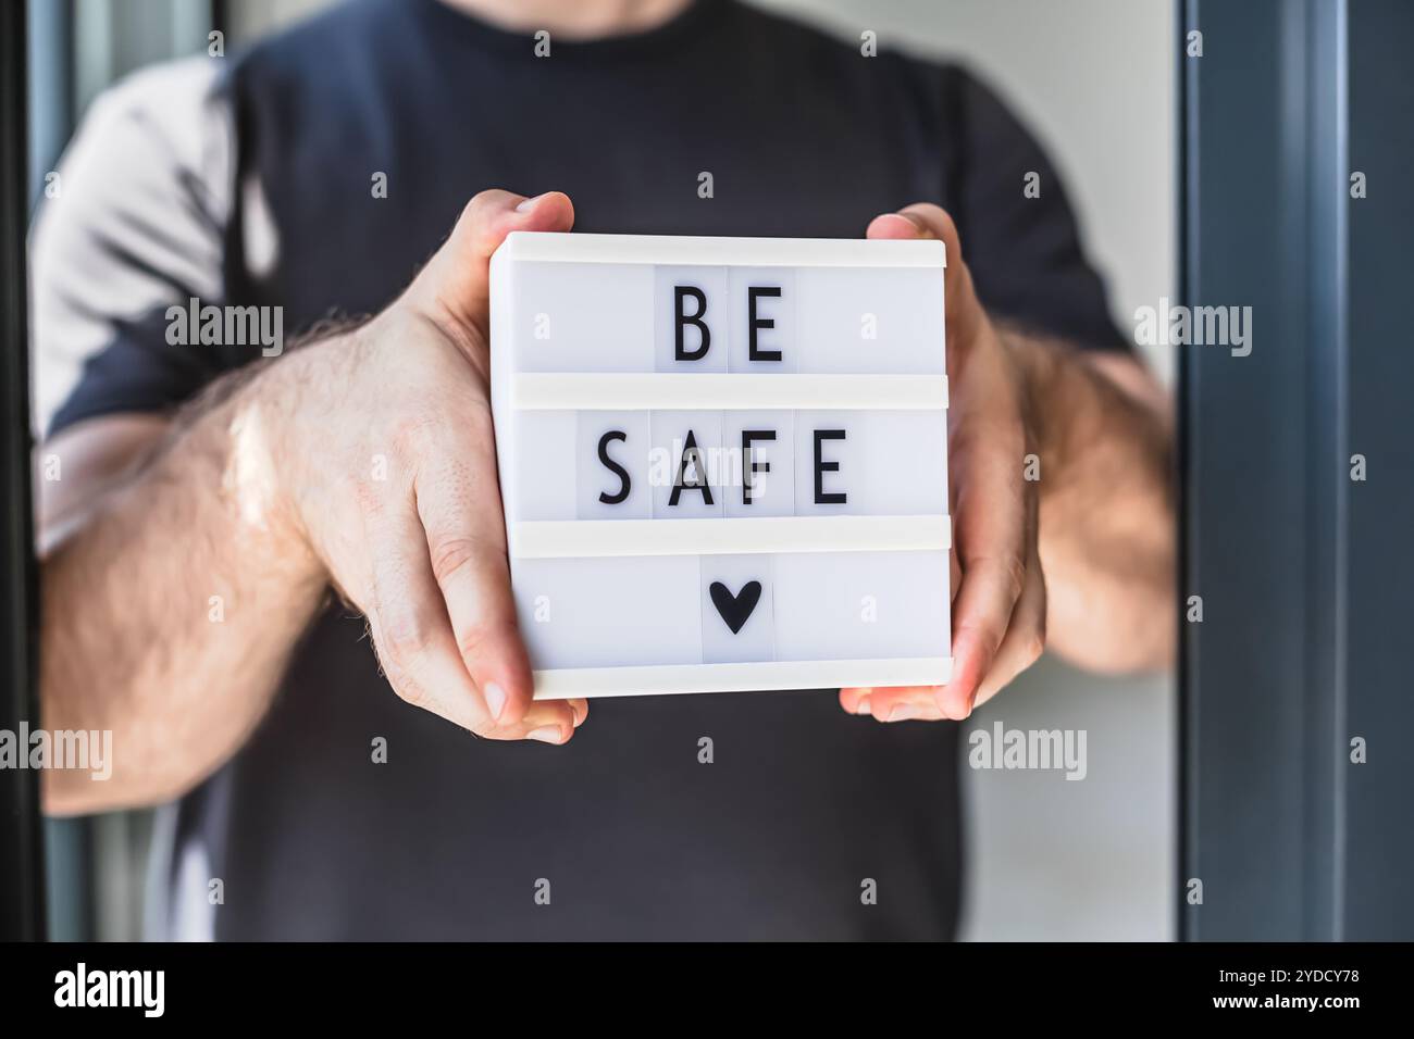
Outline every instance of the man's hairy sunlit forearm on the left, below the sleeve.
{"type": "Polygon", "coordinates": [[[113,734],[109,779],[45,772],[49,811],[167,800],[209,775],[260,720],[324,595],[264,493],[276,380],[235,379],[150,461],[42,524],[64,527],[41,563],[44,727],[113,734]]]}

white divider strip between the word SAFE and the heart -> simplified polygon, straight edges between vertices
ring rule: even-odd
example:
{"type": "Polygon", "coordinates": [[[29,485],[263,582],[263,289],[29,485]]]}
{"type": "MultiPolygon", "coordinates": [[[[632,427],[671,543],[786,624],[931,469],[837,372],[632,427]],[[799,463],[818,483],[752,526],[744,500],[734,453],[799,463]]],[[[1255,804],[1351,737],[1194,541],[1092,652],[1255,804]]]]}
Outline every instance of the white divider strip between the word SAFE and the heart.
{"type": "Polygon", "coordinates": [[[761,516],[749,519],[522,520],[519,560],[602,556],[744,556],[796,551],[940,551],[952,523],[935,516],[761,516]]]}

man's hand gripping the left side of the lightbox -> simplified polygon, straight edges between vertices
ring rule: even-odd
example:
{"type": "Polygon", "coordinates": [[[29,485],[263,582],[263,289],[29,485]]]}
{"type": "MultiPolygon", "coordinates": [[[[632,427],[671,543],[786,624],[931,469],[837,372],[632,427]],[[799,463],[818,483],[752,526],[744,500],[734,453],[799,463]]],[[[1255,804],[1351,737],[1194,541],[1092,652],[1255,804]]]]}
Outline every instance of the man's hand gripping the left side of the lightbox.
{"type": "Polygon", "coordinates": [[[228,482],[368,616],[387,680],[477,735],[563,744],[584,700],[533,703],[496,479],[489,262],[568,230],[570,199],[477,195],[387,310],[286,356],[236,401],[228,482]]]}

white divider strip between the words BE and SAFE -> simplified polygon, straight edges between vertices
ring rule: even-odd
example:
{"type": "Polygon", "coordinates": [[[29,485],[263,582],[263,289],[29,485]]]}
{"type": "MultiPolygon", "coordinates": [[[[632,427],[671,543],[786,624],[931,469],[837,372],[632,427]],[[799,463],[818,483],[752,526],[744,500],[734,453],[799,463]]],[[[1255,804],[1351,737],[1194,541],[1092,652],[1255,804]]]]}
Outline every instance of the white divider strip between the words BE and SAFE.
{"type": "Polygon", "coordinates": [[[947,407],[947,376],[520,372],[510,404],[532,411],[926,411],[947,407]]]}

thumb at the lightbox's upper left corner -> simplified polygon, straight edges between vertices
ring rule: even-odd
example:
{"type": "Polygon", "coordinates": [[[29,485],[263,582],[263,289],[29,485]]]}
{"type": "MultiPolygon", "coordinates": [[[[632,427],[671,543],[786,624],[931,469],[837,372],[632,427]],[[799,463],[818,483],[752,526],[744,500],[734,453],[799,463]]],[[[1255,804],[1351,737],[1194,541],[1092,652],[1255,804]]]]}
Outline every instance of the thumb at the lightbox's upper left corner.
{"type": "Polygon", "coordinates": [[[409,301],[436,318],[450,318],[488,336],[491,254],[512,230],[568,230],[574,204],[560,191],[534,198],[482,191],[461,211],[457,226],[409,288],[409,301]]]}

